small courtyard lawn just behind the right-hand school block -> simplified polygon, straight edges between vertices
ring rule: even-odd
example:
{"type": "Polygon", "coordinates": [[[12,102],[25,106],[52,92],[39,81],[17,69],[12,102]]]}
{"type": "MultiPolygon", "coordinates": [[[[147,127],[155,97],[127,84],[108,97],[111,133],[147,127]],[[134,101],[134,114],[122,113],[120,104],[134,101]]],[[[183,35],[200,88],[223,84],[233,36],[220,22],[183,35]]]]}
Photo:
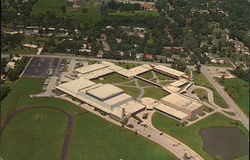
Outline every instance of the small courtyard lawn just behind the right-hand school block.
{"type": "Polygon", "coordinates": [[[161,90],[160,88],[144,88],[145,90],[145,94],[143,97],[151,97],[151,98],[155,98],[155,99],[161,99],[165,96],[168,95],[167,92],[164,92],[163,90],[161,90]]]}

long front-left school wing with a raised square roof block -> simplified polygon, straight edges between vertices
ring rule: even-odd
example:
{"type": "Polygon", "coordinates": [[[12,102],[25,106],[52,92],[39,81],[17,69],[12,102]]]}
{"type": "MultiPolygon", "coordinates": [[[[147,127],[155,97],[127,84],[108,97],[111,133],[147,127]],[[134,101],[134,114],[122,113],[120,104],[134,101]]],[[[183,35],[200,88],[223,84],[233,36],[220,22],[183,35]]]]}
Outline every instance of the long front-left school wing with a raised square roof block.
{"type": "Polygon", "coordinates": [[[116,120],[122,120],[145,108],[116,86],[94,83],[83,78],[60,84],[56,89],[107,113],[116,120]]]}

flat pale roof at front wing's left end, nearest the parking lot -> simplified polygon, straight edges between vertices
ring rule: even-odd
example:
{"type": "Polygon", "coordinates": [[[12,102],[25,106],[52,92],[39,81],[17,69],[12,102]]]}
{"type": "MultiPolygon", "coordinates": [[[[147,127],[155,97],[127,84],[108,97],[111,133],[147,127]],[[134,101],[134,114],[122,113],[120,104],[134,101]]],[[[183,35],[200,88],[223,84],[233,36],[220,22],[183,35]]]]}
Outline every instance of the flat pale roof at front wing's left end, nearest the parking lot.
{"type": "Polygon", "coordinates": [[[81,79],[77,79],[77,80],[73,80],[67,83],[60,84],[59,86],[56,86],[56,88],[65,89],[74,94],[77,94],[79,90],[93,86],[93,85],[95,85],[94,82],[81,78],[81,79]]]}

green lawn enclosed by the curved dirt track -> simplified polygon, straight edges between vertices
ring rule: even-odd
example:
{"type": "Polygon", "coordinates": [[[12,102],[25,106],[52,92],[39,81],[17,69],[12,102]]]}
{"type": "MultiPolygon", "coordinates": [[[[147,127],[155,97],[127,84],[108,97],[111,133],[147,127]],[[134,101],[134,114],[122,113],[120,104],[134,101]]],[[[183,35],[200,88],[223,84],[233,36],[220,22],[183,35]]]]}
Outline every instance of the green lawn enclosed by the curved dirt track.
{"type": "Polygon", "coordinates": [[[56,110],[32,109],[19,113],[3,132],[0,157],[60,159],[66,125],[67,117],[56,110]]]}

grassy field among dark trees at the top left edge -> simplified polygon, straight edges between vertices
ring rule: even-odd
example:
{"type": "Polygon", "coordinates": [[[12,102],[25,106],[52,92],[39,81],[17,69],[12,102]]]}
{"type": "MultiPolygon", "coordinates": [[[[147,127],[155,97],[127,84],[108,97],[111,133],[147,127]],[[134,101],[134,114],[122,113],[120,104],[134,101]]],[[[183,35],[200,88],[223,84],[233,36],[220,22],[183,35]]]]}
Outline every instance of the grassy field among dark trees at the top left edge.
{"type": "Polygon", "coordinates": [[[33,6],[32,14],[46,13],[52,11],[58,16],[69,16],[75,20],[84,22],[96,22],[101,18],[99,6],[101,2],[90,0],[91,2],[80,4],[80,8],[74,10],[72,8],[73,3],[68,0],[38,0],[33,6]],[[93,2],[93,3],[92,3],[93,2]],[[63,13],[61,7],[66,7],[66,13],[63,13]],[[87,12],[82,12],[83,8],[87,8],[87,12]]]}

